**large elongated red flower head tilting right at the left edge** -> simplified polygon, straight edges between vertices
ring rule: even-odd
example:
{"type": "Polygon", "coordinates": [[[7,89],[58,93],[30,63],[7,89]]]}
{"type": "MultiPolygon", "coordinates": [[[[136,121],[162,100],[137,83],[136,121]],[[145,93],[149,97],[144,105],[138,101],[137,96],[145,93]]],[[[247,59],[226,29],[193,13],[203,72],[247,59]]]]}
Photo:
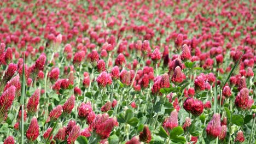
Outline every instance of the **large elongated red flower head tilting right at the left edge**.
{"type": "Polygon", "coordinates": [[[15,98],[15,86],[10,86],[0,97],[0,122],[4,121],[15,98]]]}

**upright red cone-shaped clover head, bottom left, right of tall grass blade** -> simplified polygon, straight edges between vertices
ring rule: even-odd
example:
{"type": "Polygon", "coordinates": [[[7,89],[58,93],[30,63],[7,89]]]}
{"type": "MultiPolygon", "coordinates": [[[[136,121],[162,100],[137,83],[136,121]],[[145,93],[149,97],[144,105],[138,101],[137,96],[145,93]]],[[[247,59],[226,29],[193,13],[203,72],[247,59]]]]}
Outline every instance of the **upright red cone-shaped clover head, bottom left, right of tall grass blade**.
{"type": "Polygon", "coordinates": [[[36,117],[33,117],[31,119],[30,126],[28,126],[26,136],[27,139],[30,141],[36,140],[39,136],[39,125],[36,117]]]}

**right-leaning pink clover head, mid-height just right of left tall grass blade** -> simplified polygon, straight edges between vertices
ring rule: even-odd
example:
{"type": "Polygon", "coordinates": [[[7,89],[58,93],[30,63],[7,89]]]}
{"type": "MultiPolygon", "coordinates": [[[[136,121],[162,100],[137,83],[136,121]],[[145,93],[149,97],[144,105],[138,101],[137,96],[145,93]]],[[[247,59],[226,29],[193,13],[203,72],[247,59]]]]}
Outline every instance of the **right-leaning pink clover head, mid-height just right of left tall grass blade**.
{"type": "Polygon", "coordinates": [[[28,113],[36,113],[37,112],[37,106],[39,104],[40,99],[40,89],[36,89],[32,96],[28,99],[27,103],[27,112],[28,113]]]}

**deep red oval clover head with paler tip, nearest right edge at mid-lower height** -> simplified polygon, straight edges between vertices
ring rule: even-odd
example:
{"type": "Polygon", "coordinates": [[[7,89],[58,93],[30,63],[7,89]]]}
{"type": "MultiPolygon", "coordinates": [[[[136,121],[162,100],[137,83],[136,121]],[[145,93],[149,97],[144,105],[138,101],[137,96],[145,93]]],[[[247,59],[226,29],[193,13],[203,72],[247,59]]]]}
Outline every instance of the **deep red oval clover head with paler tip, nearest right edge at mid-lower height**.
{"type": "Polygon", "coordinates": [[[246,110],[249,101],[249,90],[247,88],[242,88],[237,94],[235,99],[235,105],[237,109],[246,110]]]}

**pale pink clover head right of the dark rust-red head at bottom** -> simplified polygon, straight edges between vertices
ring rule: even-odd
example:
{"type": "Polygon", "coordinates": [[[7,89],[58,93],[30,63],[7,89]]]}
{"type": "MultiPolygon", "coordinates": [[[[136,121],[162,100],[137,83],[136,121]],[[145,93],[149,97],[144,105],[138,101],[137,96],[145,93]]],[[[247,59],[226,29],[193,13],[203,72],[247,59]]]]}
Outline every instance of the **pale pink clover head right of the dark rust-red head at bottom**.
{"type": "Polygon", "coordinates": [[[164,127],[166,130],[171,130],[178,127],[178,112],[176,110],[173,110],[170,117],[165,119],[164,123],[162,123],[162,127],[164,127]]]}

